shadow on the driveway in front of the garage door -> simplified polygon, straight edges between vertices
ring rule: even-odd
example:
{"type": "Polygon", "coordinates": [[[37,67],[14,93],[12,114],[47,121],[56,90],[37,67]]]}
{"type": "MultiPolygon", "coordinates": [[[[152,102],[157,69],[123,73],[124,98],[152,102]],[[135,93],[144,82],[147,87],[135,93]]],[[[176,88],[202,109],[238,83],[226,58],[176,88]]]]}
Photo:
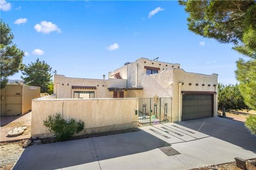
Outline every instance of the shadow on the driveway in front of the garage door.
{"type": "Polygon", "coordinates": [[[228,120],[221,117],[208,117],[182,121],[177,124],[256,153],[256,136],[250,134],[243,122],[228,120]]]}

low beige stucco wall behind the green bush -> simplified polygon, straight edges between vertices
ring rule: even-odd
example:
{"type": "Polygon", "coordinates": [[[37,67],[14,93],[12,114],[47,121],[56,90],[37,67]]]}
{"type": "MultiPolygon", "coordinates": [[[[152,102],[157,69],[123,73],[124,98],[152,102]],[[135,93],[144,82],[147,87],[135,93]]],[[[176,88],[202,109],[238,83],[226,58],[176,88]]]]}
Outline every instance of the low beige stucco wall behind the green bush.
{"type": "Polygon", "coordinates": [[[52,137],[43,121],[47,116],[61,113],[63,118],[75,118],[85,123],[77,135],[124,130],[137,127],[137,98],[106,99],[35,99],[32,104],[31,136],[52,137]]]}

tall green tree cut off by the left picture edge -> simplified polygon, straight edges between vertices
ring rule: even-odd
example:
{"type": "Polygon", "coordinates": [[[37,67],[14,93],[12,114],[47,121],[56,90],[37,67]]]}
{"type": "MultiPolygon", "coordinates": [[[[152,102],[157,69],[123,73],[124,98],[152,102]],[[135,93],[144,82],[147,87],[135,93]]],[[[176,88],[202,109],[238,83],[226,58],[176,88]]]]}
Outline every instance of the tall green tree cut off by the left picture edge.
{"type": "Polygon", "coordinates": [[[11,28],[8,24],[0,21],[1,27],[1,41],[0,41],[0,64],[1,64],[1,88],[4,88],[8,77],[13,75],[22,68],[22,58],[24,52],[17,48],[15,44],[12,43],[14,38],[11,28]]]}

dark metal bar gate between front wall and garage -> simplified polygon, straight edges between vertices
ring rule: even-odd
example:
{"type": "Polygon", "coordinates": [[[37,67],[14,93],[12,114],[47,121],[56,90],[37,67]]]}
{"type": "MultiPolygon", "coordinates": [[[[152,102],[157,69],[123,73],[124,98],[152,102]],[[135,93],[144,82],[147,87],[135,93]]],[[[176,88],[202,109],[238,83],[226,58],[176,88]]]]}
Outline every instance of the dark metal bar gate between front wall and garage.
{"type": "Polygon", "coordinates": [[[139,98],[139,118],[141,125],[172,122],[172,98],[139,98]]]}

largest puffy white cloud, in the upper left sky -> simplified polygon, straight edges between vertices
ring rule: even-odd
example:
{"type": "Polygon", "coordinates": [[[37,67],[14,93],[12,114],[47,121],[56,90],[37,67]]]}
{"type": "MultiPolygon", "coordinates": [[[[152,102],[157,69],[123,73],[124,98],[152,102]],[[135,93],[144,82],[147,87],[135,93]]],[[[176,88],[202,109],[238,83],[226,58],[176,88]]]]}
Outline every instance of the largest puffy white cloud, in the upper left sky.
{"type": "Polygon", "coordinates": [[[61,30],[58,27],[58,25],[47,21],[41,21],[41,23],[36,24],[34,28],[37,32],[42,33],[50,33],[52,31],[57,31],[58,33],[61,33],[61,30]]]}

